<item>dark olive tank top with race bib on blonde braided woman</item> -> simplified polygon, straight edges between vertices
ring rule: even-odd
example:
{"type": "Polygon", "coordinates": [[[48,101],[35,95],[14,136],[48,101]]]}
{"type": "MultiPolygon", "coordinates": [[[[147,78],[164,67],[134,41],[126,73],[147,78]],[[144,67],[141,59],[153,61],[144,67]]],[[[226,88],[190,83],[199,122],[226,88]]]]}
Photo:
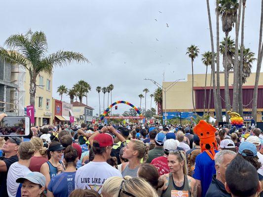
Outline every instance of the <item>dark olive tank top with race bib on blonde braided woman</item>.
{"type": "Polygon", "coordinates": [[[191,197],[190,195],[190,187],[188,184],[187,175],[185,175],[184,184],[182,187],[177,187],[173,180],[172,173],[169,173],[169,185],[166,190],[163,191],[161,197],[191,197]]]}

